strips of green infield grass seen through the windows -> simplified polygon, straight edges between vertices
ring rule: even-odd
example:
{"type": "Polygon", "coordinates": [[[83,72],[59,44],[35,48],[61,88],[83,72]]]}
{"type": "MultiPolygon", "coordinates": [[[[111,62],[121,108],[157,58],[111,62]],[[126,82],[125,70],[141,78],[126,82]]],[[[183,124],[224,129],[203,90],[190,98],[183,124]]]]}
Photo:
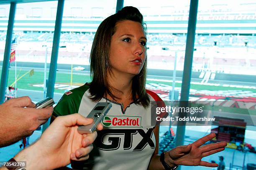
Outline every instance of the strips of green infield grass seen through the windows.
{"type": "MultiPolygon", "coordinates": [[[[25,74],[27,71],[25,70],[17,70],[17,75],[21,76],[25,74]]],[[[47,75],[48,78],[48,75],[47,75]]],[[[70,74],[66,73],[59,73],[56,74],[56,83],[57,84],[70,84],[70,74]]],[[[15,80],[15,71],[10,70],[9,71],[9,77],[8,77],[8,86],[12,84],[15,80]]],[[[91,78],[89,75],[76,75],[73,74],[73,85],[82,85],[85,82],[90,82],[91,78]]],[[[39,90],[43,91],[42,87],[34,87],[35,84],[43,84],[44,82],[44,72],[35,71],[34,75],[29,76],[27,74],[22,79],[20,79],[17,82],[18,89],[29,89],[29,90],[39,90]]],[[[161,81],[152,81],[148,80],[147,83],[161,83],[165,85],[171,85],[172,82],[161,82],[161,81]]],[[[181,87],[181,83],[175,83],[176,87],[181,87]]],[[[209,86],[209,85],[190,85],[190,88],[195,90],[246,90],[246,91],[252,91],[256,92],[256,89],[246,89],[246,88],[236,88],[236,87],[222,87],[222,86],[209,86]]],[[[64,93],[64,90],[55,89],[54,92],[64,93]]]]}

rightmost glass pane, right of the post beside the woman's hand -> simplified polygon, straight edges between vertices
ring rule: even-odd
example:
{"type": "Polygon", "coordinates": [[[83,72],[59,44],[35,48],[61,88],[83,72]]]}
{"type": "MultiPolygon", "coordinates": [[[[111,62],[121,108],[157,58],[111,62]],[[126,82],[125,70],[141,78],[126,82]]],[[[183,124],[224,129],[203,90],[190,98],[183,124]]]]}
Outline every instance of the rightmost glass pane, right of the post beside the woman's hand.
{"type": "MultiPolygon", "coordinates": [[[[212,110],[218,108],[209,114],[217,120],[208,128],[217,134],[213,141],[228,142],[221,153],[226,155],[226,165],[232,163],[230,148],[256,145],[255,14],[252,0],[199,1],[189,99],[205,105],[212,101],[212,110]]],[[[242,166],[242,153],[238,155],[234,165],[242,166]]],[[[253,159],[255,154],[246,154],[245,165],[253,159]]]]}

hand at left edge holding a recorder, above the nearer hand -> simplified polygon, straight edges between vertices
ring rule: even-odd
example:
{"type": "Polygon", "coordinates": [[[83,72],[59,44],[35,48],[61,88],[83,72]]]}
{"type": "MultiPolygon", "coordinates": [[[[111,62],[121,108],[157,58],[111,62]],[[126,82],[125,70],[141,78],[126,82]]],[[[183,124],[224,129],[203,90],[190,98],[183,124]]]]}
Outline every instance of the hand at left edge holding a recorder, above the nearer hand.
{"type": "Polygon", "coordinates": [[[36,109],[29,97],[18,97],[0,105],[0,147],[32,135],[53,112],[53,107],[36,109]],[[25,108],[24,108],[25,107],[25,108]]]}

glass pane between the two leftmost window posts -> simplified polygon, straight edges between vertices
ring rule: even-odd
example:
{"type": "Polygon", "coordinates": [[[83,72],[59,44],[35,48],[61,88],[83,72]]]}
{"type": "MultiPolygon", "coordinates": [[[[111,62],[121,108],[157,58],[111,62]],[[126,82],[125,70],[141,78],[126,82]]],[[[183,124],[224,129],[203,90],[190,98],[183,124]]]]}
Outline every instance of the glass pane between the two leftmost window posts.
{"type": "MultiPolygon", "coordinates": [[[[28,95],[37,102],[44,98],[44,63],[46,47],[52,45],[55,14],[52,8],[57,1],[20,3],[16,5],[13,40],[15,49],[17,97],[28,95]],[[53,17],[54,16],[54,17],[53,17]]],[[[47,62],[51,60],[51,48],[47,51],[47,62]]],[[[15,62],[10,63],[8,86],[14,86],[15,62]]]]}

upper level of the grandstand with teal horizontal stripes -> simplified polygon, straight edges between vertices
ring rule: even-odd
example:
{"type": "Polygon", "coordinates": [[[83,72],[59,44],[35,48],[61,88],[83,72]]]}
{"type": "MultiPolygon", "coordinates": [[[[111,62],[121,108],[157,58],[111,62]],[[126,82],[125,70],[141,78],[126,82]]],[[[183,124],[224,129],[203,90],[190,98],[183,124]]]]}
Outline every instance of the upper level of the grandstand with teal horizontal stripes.
{"type": "MultiPolygon", "coordinates": [[[[64,9],[63,32],[95,32],[101,21],[115,13],[108,2],[90,2],[90,6],[79,1],[67,0],[64,9]],[[86,13],[84,11],[87,11],[86,13]]],[[[136,4],[136,2],[126,2],[136,4]]],[[[161,2],[150,6],[139,4],[149,33],[187,33],[189,3],[187,1],[169,5],[161,2]]],[[[131,5],[130,4],[130,5],[131,5]]],[[[129,5],[129,4],[128,4],[129,5]]],[[[198,34],[249,34],[256,33],[256,3],[253,0],[235,0],[231,4],[220,0],[200,2],[197,15],[198,34]]],[[[6,30],[9,6],[0,9],[0,30],[6,30]]],[[[16,12],[14,30],[16,31],[54,31],[56,2],[19,4],[16,12]],[[44,11],[44,12],[43,12],[44,11]]],[[[78,38],[79,39],[79,38],[78,38]]]]}

